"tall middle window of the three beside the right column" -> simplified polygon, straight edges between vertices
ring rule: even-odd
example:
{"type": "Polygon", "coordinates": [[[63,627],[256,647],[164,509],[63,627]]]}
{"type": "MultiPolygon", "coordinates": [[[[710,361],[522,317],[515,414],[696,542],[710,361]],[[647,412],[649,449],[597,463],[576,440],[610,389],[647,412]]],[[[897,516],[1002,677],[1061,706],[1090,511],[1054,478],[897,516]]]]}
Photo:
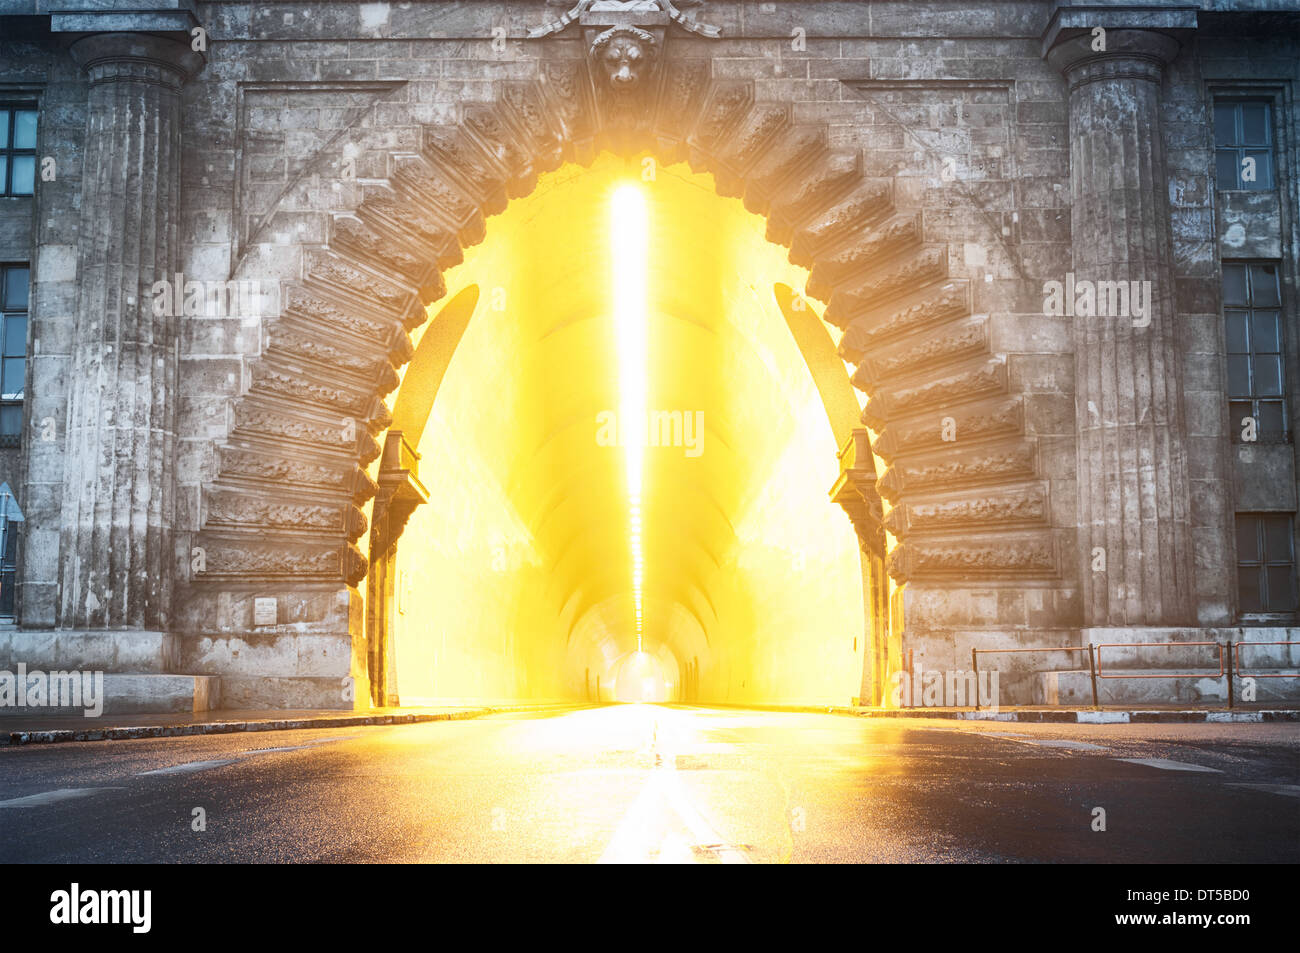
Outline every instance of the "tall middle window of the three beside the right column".
{"type": "Polygon", "coordinates": [[[1287,439],[1280,269],[1271,261],[1223,263],[1230,430],[1261,443],[1287,439]]]}

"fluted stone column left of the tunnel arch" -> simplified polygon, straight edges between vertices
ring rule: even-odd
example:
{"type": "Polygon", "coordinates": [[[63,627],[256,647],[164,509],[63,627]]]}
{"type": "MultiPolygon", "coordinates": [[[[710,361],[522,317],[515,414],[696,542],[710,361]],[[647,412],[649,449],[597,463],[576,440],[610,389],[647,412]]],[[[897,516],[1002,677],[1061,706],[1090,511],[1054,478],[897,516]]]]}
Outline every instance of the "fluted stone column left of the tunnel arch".
{"type": "Polygon", "coordinates": [[[155,308],[152,289],[179,270],[181,86],[202,57],[176,39],[112,33],[70,52],[90,96],[57,624],[161,629],[176,562],[178,317],[155,308]]]}

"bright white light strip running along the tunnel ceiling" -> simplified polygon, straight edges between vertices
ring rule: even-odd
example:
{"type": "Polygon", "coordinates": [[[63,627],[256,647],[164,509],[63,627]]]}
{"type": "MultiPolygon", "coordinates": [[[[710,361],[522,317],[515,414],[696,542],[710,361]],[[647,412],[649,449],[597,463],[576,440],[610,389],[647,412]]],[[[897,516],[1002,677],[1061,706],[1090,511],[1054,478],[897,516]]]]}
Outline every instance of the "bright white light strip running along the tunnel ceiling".
{"type": "Polygon", "coordinates": [[[638,186],[621,185],[610,200],[610,248],[614,260],[614,325],[619,342],[619,429],[628,482],[628,541],[632,546],[632,607],[641,651],[641,491],[645,469],[646,412],[646,198],[638,186]]]}

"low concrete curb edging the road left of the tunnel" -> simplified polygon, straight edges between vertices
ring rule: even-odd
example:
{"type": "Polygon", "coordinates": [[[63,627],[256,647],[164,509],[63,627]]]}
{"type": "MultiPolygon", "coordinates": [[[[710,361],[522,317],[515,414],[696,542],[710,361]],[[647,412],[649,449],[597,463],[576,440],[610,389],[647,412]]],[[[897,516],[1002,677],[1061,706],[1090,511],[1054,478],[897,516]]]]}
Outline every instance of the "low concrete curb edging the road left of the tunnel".
{"type": "Polygon", "coordinates": [[[299,728],[355,728],[360,725],[419,724],[422,722],[463,722],[471,718],[511,711],[549,711],[555,705],[520,705],[463,711],[402,712],[390,715],[342,715],[320,718],[273,718],[235,722],[195,722],[192,724],[146,724],[116,728],[53,728],[48,731],[0,731],[0,748],[12,745],[52,745],[62,741],[131,741],[174,738],[192,735],[235,735],[256,731],[295,731],[299,728]]]}

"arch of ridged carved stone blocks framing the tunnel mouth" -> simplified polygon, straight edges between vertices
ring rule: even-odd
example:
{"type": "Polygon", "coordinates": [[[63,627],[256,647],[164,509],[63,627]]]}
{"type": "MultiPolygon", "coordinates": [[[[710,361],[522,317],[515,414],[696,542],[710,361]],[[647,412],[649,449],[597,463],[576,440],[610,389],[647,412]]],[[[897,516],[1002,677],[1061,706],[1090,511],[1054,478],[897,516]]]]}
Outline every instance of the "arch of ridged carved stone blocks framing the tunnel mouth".
{"type": "MultiPolygon", "coordinates": [[[[328,603],[312,631],[350,644],[351,659],[335,641],[316,686],[326,694],[285,703],[328,703],[339,675],[365,671],[348,592],[369,568],[363,507],[380,486],[367,469],[393,424],[385,398],[412,358],[410,333],[446,293],[442,270],[541,173],[603,150],[711,173],[811,272],[807,295],[844,330],[840,358],[857,367],[852,381],[870,395],[862,421],[876,436],[868,446],[862,430],[845,447],[836,499],[896,582],[941,597],[954,581],[1058,579],[1035,439],[944,235],[900,208],[892,181],[864,174],[857,152],[832,147],[824,126],[758,100],[753,83],[714,78],[707,59],[663,57],[629,98],[567,49],[555,42],[536,79],[499,82],[494,101],[426,126],[419,152],[391,151],[386,179],[355,190],[282,289],[204,488],[191,586],[217,599],[291,588],[328,603]],[[879,478],[871,451],[885,463],[879,478]],[[896,540],[888,551],[881,529],[896,540]]],[[[343,177],[337,160],[330,173],[343,177]]],[[[268,701],[238,686],[237,698],[268,701]]]]}

